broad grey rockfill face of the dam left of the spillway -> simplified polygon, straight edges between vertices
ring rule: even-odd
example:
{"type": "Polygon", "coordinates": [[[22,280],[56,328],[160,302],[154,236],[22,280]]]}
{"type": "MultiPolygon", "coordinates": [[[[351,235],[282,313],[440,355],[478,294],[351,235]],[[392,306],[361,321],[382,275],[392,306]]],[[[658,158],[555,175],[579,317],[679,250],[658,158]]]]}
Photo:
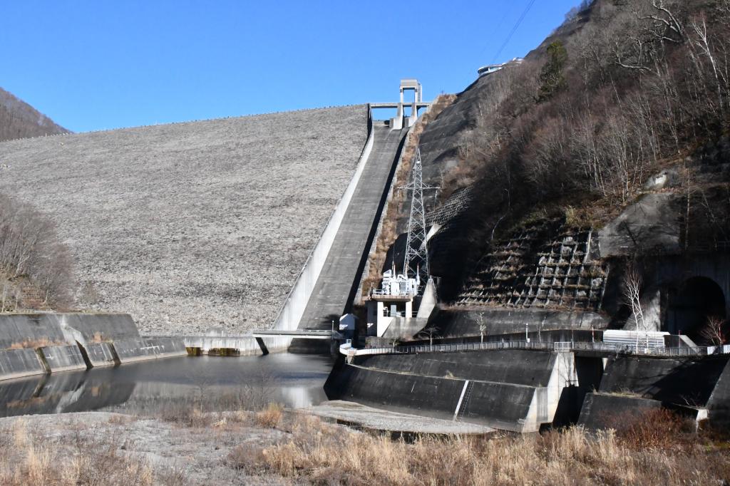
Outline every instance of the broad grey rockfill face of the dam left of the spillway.
{"type": "Polygon", "coordinates": [[[58,224],[93,308],[245,333],[272,325],[366,131],[353,106],[3,142],[0,192],[58,224]]]}

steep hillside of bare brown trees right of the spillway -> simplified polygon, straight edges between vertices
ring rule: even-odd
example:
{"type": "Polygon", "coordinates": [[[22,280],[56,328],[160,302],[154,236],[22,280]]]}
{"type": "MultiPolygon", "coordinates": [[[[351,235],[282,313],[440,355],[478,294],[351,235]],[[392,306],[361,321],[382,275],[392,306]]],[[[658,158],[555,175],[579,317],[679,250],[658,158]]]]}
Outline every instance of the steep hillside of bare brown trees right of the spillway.
{"type": "MultiPolygon", "coordinates": [[[[473,189],[461,237],[475,244],[450,268],[468,271],[535,215],[600,226],[661,170],[707,207],[727,198],[729,45],[730,1],[595,0],[522,63],[460,93],[421,137],[442,201],[473,189]]],[[[727,222],[715,226],[713,238],[730,239],[727,222]]]]}

